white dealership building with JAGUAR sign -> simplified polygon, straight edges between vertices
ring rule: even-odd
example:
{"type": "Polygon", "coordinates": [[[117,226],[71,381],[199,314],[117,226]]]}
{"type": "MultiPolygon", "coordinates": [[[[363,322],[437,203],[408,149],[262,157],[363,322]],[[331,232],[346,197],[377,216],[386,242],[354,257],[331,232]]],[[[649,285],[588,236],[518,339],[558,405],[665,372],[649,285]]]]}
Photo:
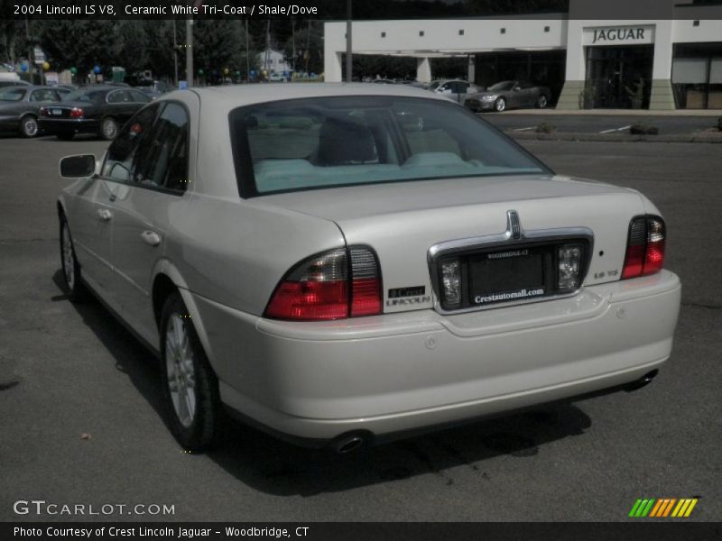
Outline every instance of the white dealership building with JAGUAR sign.
{"type": "MultiPolygon", "coordinates": [[[[346,29],[325,23],[327,81],[343,78],[346,29]]],[[[466,58],[469,81],[532,81],[551,89],[558,109],[722,109],[722,3],[704,0],[569,0],[565,14],[355,21],[352,50],[413,57],[422,82],[435,61],[466,58]]]]}

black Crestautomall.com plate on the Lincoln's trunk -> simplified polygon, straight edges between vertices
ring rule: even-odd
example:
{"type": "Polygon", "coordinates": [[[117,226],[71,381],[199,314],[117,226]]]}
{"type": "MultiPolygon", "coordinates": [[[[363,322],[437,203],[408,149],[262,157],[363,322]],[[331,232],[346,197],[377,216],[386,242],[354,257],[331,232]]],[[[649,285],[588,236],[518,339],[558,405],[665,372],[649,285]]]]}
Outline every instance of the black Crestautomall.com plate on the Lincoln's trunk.
{"type": "Polygon", "coordinates": [[[470,257],[468,263],[471,306],[529,300],[547,293],[544,253],[538,249],[488,252],[470,257]]]}

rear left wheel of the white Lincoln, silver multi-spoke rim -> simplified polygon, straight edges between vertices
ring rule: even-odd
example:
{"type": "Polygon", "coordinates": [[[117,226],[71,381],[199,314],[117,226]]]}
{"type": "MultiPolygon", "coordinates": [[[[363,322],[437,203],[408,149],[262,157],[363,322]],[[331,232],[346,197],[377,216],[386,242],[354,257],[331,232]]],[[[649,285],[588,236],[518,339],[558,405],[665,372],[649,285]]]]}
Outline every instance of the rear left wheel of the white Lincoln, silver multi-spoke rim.
{"type": "Polygon", "coordinates": [[[208,450],[221,416],[218,378],[178,292],[162,309],[161,381],[173,436],[191,452],[208,450]]]}

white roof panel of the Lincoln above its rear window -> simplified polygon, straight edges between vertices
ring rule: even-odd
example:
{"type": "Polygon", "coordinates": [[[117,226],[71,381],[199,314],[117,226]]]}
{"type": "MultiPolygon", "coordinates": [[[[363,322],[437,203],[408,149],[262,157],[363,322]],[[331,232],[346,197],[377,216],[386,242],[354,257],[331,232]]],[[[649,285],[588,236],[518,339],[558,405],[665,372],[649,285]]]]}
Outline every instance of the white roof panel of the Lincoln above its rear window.
{"type": "MultiPolygon", "coordinates": [[[[286,99],[329,96],[407,96],[448,101],[443,96],[408,85],[369,85],[368,83],[286,83],[285,85],[228,85],[224,87],[194,87],[204,106],[222,107],[227,110],[243,105],[254,105],[286,99]]],[[[188,90],[176,90],[162,99],[172,99],[188,90]]]]}

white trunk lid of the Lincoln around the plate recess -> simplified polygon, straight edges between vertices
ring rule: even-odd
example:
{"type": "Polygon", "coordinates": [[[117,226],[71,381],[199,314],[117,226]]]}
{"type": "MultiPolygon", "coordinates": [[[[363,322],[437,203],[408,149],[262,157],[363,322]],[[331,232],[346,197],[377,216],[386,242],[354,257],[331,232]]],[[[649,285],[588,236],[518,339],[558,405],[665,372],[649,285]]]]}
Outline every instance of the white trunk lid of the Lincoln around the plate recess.
{"type": "MultiPolygon", "coordinates": [[[[567,230],[576,232],[569,233],[570,238],[579,239],[579,232],[586,231],[593,240],[584,283],[618,280],[629,222],[644,214],[643,199],[633,190],[552,176],[426,180],[301,191],[262,200],[331,220],[348,245],[373,248],[382,272],[384,312],[433,307],[438,278],[433,276],[430,249],[460,240],[498,240],[509,229],[509,211],[518,216],[523,238],[497,244],[495,250],[508,250],[531,234],[567,230]]],[[[563,240],[562,236],[554,242],[563,240]]]]}

